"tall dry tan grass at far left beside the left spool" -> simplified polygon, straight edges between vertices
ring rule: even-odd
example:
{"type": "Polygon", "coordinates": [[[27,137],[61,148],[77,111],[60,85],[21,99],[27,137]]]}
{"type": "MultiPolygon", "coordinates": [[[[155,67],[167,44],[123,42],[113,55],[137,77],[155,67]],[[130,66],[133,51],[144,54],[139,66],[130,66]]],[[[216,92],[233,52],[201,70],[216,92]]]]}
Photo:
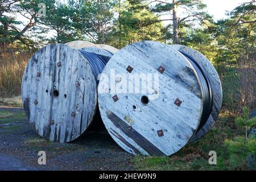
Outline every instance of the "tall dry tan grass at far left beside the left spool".
{"type": "Polygon", "coordinates": [[[20,95],[22,76],[32,51],[0,50],[0,98],[20,95]]]}

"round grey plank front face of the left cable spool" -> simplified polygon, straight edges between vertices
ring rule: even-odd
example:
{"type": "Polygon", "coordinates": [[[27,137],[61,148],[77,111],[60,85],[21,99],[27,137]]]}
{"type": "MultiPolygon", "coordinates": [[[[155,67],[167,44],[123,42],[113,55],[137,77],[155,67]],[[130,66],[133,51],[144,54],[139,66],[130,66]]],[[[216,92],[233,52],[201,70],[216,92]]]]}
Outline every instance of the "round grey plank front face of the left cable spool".
{"type": "Polygon", "coordinates": [[[76,49],[51,44],[28,61],[22,100],[39,135],[55,142],[70,142],[92,122],[97,109],[96,78],[76,49]]]}

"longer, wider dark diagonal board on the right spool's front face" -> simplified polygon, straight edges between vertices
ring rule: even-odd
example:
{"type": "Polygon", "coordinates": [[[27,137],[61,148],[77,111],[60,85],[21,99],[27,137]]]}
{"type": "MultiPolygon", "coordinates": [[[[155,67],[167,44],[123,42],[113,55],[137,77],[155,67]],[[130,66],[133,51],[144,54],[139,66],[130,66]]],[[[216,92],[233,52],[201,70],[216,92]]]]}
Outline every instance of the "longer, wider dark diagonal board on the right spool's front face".
{"type": "Polygon", "coordinates": [[[115,127],[122,130],[122,132],[125,133],[127,137],[133,139],[134,142],[136,142],[140,147],[142,147],[143,150],[146,151],[149,155],[166,156],[166,154],[160,151],[159,148],[154,146],[154,144],[152,144],[150,141],[144,138],[141,134],[139,134],[138,131],[131,128],[130,125],[128,125],[125,121],[123,121],[117,115],[115,115],[109,110],[107,111],[106,114],[108,115],[108,118],[110,119],[110,121],[113,122],[115,127]]]}

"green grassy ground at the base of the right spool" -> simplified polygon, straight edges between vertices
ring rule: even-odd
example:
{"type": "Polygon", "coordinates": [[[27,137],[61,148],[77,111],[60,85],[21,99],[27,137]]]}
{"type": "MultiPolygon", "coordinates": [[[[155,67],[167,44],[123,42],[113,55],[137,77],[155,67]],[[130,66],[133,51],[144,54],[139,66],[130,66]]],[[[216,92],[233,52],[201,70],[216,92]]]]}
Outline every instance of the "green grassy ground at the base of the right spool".
{"type": "MultiPolygon", "coordinates": [[[[175,155],[170,157],[142,156],[132,159],[137,169],[146,170],[245,170],[245,160],[241,156],[234,155],[230,159],[230,152],[226,142],[234,137],[243,135],[243,131],[236,127],[234,115],[222,110],[214,127],[204,137],[196,142],[188,144],[175,155]],[[216,151],[217,164],[210,165],[208,162],[209,151],[216,151]],[[233,162],[234,161],[234,162],[233,162]],[[237,162],[239,161],[239,162],[237,162]],[[235,163],[235,164],[234,164],[235,163]]],[[[254,140],[255,142],[256,140],[254,140]]],[[[255,147],[255,145],[254,145],[255,147]]],[[[256,149],[253,149],[256,152],[256,149]]],[[[242,151],[243,152],[243,151],[242,151]]],[[[255,162],[255,161],[254,161],[255,162]]]]}

